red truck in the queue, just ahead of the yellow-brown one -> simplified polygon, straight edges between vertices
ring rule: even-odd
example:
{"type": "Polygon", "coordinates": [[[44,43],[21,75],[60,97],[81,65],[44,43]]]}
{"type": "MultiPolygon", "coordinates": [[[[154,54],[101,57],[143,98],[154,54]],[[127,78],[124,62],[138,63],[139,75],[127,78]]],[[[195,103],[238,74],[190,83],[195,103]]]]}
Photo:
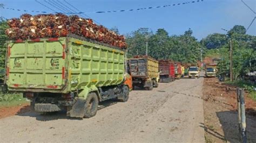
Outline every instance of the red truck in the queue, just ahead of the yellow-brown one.
{"type": "Polygon", "coordinates": [[[170,60],[159,60],[159,82],[172,82],[175,80],[174,62],[170,60]]]}

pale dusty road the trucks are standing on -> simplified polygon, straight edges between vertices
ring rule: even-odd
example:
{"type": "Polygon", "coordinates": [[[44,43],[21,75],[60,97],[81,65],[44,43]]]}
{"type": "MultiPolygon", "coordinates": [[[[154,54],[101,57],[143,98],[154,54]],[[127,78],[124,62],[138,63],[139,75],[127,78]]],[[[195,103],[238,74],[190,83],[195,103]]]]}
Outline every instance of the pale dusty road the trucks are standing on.
{"type": "Polygon", "coordinates": [[[134,90],[126,103],[107,101],[90,119],[27,112],[0,120],[0,140],[72,142],[205,142],[203,78],[134,90]]]}

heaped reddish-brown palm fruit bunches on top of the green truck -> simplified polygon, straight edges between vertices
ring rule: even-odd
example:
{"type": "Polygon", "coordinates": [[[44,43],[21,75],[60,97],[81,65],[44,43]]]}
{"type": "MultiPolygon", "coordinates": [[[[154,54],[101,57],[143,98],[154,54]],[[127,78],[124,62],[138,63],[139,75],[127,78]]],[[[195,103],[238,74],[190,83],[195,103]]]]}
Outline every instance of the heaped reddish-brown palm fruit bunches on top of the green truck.
{"type": "Polygon", "coordinates": [[[58,13],[31,16],[24,14],[20,18],[8,20],[8,25],[10,28],[5,32],[11,40],[57,38],[76,34],[112,46],[126,47],[123,35],[118,35],[102,25],[96,25],[92,19],[80,18],[76,15],[66,16],[58,13]]]}

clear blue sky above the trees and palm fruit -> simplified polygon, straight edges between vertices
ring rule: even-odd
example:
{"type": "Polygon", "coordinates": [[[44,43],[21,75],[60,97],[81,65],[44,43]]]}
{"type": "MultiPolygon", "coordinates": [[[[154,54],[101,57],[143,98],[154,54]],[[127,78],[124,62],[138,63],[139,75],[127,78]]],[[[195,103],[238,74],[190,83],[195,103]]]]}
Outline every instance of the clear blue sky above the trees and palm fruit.
{"type": "MultiPolygon", "coordinates": [[[[37,0],[45,5],[45,1],[37,0]]],[[[51,0],[58,4],[65,4],[64,0],[51,0]]],[[[164,28],[169,35],[183,34],[188,28],[193,31],[198,40],[208,34],[223,33],[224,28],[230,30],[234,25],[242,25],[247,28],[256,16],[241,0],[204,0],[203,2],[189,3],[165,8],[147,9],[139,11],[92,13],[95,11],[129,10],[192,2],[196,0],[66,0],[78,10],[87,12],[86,15],[95,19],[107,28],[117,27],[120,34],[131,33],[140,27],[150,28],[156,32],[158,28],[164,28]]],[[[244,0],[256,11],[256,0],[244,0]]],[[[5,8],[20,10],[36,10],[51,13],[36,0],[0,0],[5,8]]],[[[67,4],[66,4],[67,5],[67,4]]],[[[48,5],[49,6],[49,5],[48,5]]],[[[55,11],[57,8],[51,6],[55,11]]],[[[58,6],[59,8],[59,6],[58,6]]],[[[71,7],[70,7],[71,8],[71,7]]],[[[24,11],[7,10],[0,8],[0,16],[7,19],[19,17],[24,11]]],[[[27,12],[37,15],[37,12],[27,12]]],[[[247,34],[256,35],[256,20],[251,25],[247,34]]]]}

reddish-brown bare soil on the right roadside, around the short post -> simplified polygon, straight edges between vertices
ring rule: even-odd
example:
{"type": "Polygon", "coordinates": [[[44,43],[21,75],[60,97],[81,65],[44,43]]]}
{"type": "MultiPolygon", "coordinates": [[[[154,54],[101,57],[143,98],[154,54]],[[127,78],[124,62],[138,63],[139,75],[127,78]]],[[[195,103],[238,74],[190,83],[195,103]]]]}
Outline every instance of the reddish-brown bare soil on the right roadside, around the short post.
{"type": "MultiPolygon", "coordinates": [[[[239,142],[236,87],[204,78],[206,142],[239,142]]],[[[245,93],[248,142],[256,142],[256,102],[245,93]]]]}

